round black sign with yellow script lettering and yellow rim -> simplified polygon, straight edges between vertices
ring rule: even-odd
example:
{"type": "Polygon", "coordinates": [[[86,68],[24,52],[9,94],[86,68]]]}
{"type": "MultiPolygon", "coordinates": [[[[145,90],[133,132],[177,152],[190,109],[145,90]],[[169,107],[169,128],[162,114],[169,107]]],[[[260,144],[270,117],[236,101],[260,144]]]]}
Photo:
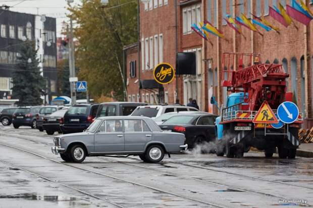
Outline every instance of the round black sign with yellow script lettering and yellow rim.
{"type": "Polygon", "coordinates": [[[153,70],[154,80],[162,85],[169,84],[175,76],[174,68],[169,63],[160,63],[153,70]]]}

